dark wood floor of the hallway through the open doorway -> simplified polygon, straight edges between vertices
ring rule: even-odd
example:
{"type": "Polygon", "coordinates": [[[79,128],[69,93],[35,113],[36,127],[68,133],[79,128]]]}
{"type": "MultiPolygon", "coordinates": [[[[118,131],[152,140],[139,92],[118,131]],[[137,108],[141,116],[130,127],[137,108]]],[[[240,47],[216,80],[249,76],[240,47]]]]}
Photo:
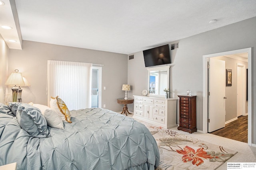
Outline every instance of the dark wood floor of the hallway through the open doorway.
{"type": "Polygon", "coordinates": [[[248,143],[248,116],[239,116],[237,120],[211,134],[248,143]]]}

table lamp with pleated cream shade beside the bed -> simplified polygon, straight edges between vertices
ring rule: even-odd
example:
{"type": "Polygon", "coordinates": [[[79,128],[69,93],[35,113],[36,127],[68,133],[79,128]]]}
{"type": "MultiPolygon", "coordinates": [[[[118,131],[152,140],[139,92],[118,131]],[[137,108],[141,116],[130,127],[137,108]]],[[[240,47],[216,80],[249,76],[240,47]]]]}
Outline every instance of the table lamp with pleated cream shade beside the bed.
{"type": "Polygon", "coordinates": [[[4,85],[14,86],[12,88],[12,102],[17,102],[18,86],[24,86],[22,74],[20,72],[12,72],[4,85]]]}

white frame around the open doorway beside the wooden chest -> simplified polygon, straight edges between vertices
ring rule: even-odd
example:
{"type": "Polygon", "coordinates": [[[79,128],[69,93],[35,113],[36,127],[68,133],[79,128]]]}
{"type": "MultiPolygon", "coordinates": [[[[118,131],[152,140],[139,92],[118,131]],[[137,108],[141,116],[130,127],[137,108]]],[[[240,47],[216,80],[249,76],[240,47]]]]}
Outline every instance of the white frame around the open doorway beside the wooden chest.
{"type": "Polygon", "coordinates": [[[208,63],[210,57],[248,53],[248,145],[252,146],[252,48],[203,55],[203,133],[208,132],[208,63]]]}

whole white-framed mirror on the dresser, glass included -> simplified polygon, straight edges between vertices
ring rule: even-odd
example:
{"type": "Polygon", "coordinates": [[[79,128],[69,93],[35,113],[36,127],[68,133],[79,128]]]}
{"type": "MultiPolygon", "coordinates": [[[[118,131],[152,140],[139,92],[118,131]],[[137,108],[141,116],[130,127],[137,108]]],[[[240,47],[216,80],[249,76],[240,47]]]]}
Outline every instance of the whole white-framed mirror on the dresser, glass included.
{"type": "Polygon", "coordinates": [[[148,91],[150,96],[165,96],[164,89],[169,88],[170,66],[148,69],[148,91]]]}

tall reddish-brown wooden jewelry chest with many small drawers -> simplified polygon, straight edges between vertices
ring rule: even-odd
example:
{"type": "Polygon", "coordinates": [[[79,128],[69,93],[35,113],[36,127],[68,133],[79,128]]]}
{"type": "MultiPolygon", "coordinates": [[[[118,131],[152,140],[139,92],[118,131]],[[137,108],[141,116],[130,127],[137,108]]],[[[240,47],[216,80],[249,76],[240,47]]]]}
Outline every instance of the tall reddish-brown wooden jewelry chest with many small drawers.
{"type": "Polygon", "coordinates": [[[196,96],[178,95],[180,109],[180,125],[178,130],[189,133],[196,132],[196,96]]]}

